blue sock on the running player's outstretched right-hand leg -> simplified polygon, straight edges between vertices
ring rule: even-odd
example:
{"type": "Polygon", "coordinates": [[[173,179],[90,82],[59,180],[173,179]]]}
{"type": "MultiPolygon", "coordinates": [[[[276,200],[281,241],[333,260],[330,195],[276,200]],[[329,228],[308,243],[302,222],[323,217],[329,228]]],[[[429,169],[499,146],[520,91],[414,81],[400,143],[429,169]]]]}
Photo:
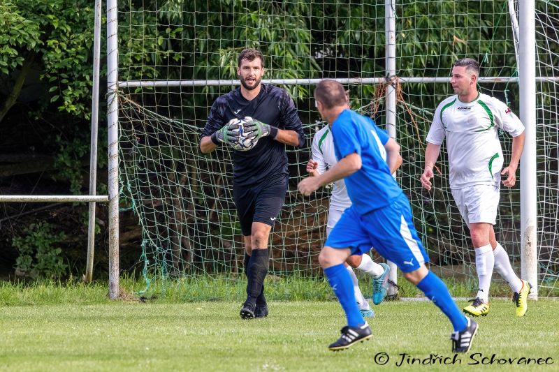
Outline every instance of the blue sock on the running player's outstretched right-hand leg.
{"type": "Polygon", "coordinates": [[[452,297],[450,297],[447,285],[433,272],[429,271],[429,274],[417,284],[417,288],[422,290],[427,298],[441,309],[444,315],[447,315],[447,318],[452,323],[452,327],[454,327],[454,331],[461,331],[467,327],[467,319],[460,313],[460,309],[456,306],[452,297]]]}

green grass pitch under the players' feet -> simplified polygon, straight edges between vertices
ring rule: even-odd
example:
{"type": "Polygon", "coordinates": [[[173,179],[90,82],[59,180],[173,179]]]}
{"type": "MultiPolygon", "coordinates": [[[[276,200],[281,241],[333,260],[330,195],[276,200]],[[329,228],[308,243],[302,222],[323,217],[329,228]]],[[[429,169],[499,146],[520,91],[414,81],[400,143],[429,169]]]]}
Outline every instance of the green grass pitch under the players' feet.
{"type": "Polygon", "coordinates": [[[271,302],[268,318],[248,321],[240,320],[238,302],[110,302],[103,285],[0,285],[0,304],[6,371],[559,370],[559,302],[550,299],[530,302],[524,318],[514,316],[511,302],[493,300],[490,315],[478,320],[472,350],[453,365],[412,364],[406,357],[398,365],[403,353],[453,357],[449,322],[423,301],[374,306],[374,337],[344,352],[326,348],[345,322],[335,301],[271,302]],[[385,365],[375,362],[386,357],[381,353],[389,356],[385,365]],[[481,364],[492,355],[493,364],[481,364]],[[553,364],[518,366],[521,357],[553,364]],[[517,359],[498,365],[508,358],[517,359]]]}

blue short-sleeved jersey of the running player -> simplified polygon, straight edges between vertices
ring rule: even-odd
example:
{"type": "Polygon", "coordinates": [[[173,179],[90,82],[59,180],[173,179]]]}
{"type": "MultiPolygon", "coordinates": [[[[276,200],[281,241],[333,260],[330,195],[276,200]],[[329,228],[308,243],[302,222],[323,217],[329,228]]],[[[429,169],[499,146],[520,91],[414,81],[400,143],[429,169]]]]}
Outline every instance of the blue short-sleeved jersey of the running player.
{"type": "Polygon", "coordinates": [[[344,110],[332,123],[337,160],[349,154],[361,156],[361,169],[345,178],[349,199],[359,214],[386,207],[402,195],[386,163],[389,135],[368,117],[344,110]]]}

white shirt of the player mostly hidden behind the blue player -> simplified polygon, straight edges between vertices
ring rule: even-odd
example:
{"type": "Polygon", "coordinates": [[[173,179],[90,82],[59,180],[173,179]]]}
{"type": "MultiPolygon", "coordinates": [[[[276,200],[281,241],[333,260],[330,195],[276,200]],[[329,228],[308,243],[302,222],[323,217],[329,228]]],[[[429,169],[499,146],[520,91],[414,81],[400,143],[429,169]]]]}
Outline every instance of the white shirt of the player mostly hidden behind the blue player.
{"type": "MultiPolygon", "coordinates": [[[[318,171],[320,174],[332,168],[337,163],[337,158],[334,151],[334,137],[328,126],[324,126],[312,138],[312,158],[318,164],[318,171]]],[[[347,195],[347,189],[343,179],[334,182],[332,188],[332,195],[330,198],[330,208],[343,211],[351,207],[351,200],[347,195]]]]}

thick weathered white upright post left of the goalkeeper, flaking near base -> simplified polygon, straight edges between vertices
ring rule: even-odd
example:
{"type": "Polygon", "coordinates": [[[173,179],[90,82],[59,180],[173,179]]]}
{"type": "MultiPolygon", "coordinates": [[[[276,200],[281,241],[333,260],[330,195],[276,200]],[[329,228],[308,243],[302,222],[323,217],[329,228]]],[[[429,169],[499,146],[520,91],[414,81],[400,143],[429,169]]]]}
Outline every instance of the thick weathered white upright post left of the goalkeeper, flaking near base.
{"type": "Polygon", "coordinates": [[[108,196],[109,196],[109,297],[119,296],[118,221],[118,8],[107,1],[107,88],[108,88],[108,196]]]}

